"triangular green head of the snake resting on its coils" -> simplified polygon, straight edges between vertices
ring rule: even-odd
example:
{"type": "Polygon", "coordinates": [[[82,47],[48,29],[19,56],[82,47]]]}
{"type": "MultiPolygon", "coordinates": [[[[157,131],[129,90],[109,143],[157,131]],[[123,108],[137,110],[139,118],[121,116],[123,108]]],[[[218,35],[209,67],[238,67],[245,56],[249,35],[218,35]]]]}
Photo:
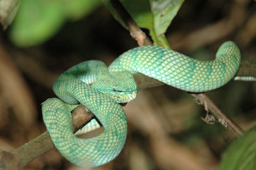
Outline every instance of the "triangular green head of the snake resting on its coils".
{"type": "Polygon", "coordinates": [[[137,86],[133,74],[128,71],[105,74],[96,79],[91,86],[107,94],[118,103],[128,103],[137,94],[137,86]]]}

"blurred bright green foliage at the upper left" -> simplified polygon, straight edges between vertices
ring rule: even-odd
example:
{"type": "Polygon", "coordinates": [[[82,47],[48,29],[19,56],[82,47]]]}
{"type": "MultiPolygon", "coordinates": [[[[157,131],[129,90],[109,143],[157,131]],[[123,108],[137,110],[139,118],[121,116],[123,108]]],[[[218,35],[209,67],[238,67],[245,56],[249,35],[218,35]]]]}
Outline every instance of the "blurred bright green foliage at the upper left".
{"type": "Polygon", "coordinates": [[[94,0],[23,0],[11,28],[11,40],[20,47],[51,38],[67,20],[76,21],[99,6],[94,0]]]}

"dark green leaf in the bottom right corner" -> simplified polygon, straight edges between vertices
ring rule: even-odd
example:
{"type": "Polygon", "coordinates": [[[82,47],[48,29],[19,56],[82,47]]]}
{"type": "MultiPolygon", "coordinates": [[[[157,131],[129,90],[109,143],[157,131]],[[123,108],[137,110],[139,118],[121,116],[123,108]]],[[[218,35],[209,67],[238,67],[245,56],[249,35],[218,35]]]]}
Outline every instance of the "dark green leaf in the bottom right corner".
{"type": "Polygon", "coordinates": [[[256,126],[231,143],[223,154],[220,169],[256,169],[256,126]]]}

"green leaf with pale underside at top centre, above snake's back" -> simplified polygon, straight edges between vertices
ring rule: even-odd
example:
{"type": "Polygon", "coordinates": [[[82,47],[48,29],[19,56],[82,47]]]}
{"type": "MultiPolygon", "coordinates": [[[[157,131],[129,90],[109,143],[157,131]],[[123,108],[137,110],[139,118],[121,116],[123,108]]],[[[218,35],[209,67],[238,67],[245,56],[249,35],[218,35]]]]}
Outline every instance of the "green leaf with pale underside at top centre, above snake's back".
{"type": "MultiPolygon", "coordinates": [[[[124,25],[108,0],[102,1],[113,13],[113,16],[124,25]]],[[[163,47],[169,47],[164,34],[183,2],[184,0],[121,0],[138,26],[150,30],[154,44],[163,47]]]]}

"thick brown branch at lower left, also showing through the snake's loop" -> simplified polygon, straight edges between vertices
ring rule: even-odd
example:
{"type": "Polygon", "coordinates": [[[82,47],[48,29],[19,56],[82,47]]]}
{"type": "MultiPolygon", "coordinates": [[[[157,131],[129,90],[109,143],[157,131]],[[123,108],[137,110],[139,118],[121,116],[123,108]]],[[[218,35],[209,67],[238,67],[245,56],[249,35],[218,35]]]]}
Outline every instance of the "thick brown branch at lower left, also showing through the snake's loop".
{"type": "MultiPolygon", "coordinates": [[[[94,115],[82,104],[71,112],[73,132],[76,132],[84,124],[89,122],[94,115]]],[[[0,150],[0,170],[1,169],[22,169],[33,159],[40,157],[54,147],[48,131],[43,132],[35,139],[14,149],[11,152],[0,150]]]]}

